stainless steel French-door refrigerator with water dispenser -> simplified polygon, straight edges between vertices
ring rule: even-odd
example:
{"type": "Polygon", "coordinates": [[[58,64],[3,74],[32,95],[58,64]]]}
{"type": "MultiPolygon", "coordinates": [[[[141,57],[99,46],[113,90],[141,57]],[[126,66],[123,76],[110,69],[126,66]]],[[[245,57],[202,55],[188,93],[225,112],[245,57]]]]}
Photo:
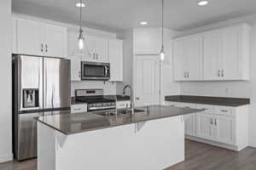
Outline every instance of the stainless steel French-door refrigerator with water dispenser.
{"type": "Polygon", "coordinates": [[[18,161],[37,156],[35,116],[70,110],[70,60],[13,54],[13,146],[18,161]]]}

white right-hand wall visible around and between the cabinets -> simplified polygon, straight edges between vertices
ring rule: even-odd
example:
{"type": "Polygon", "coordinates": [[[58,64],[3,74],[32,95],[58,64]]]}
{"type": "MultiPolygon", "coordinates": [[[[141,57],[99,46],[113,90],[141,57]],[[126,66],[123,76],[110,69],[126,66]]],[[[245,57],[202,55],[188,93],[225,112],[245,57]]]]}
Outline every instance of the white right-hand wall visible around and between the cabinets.
{"type": "Polygon", "coordinates": [[[214,24],[212,26],[205,26],[194,31],[183,32],[183,34],[211,30],[218,27],[230,26],[241,22],[247,22],[252,26],[250,50],[250,80],[233,82],[182,82],[181,94],[250,98],[251,105],[249,113],[249,142],[250,145],[256,147],[256,15],[251,15],[236,20],[220,22],[218,24],[214,24]]]}

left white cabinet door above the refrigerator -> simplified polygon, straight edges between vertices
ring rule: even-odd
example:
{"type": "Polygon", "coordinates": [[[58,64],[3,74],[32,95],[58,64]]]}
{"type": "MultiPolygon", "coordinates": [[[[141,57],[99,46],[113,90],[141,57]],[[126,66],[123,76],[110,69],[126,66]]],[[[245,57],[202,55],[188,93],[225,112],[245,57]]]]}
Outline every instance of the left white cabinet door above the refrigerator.
{"type": "Polygon", "coordinates": [[[16,48],[18,54],[43,55],[43,27],[40,22],[17,19],[16,48]]]}

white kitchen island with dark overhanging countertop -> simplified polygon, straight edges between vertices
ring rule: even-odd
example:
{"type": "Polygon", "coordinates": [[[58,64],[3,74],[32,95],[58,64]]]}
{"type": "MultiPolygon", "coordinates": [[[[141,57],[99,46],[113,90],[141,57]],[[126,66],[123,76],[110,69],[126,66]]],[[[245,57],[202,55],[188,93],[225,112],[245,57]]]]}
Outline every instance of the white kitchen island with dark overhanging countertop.
{"type": "Polygon", "coordinates": [[[139,109],[38,117],[38,170],[156,170],[183,161],[183,116],[203,110],[139,109]]]}

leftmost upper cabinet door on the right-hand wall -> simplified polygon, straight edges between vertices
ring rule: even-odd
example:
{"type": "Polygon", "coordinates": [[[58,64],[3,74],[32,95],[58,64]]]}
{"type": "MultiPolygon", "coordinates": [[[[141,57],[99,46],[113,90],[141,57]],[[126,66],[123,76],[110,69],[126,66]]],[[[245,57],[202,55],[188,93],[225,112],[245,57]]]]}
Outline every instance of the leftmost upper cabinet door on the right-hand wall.
{"type": "Polygon", "coordinates": [[[175,81],[186,80],[185,71],[189,65],[184,46],[185,43],[182,39],[173,42],[173,77],[175,81]]]}

